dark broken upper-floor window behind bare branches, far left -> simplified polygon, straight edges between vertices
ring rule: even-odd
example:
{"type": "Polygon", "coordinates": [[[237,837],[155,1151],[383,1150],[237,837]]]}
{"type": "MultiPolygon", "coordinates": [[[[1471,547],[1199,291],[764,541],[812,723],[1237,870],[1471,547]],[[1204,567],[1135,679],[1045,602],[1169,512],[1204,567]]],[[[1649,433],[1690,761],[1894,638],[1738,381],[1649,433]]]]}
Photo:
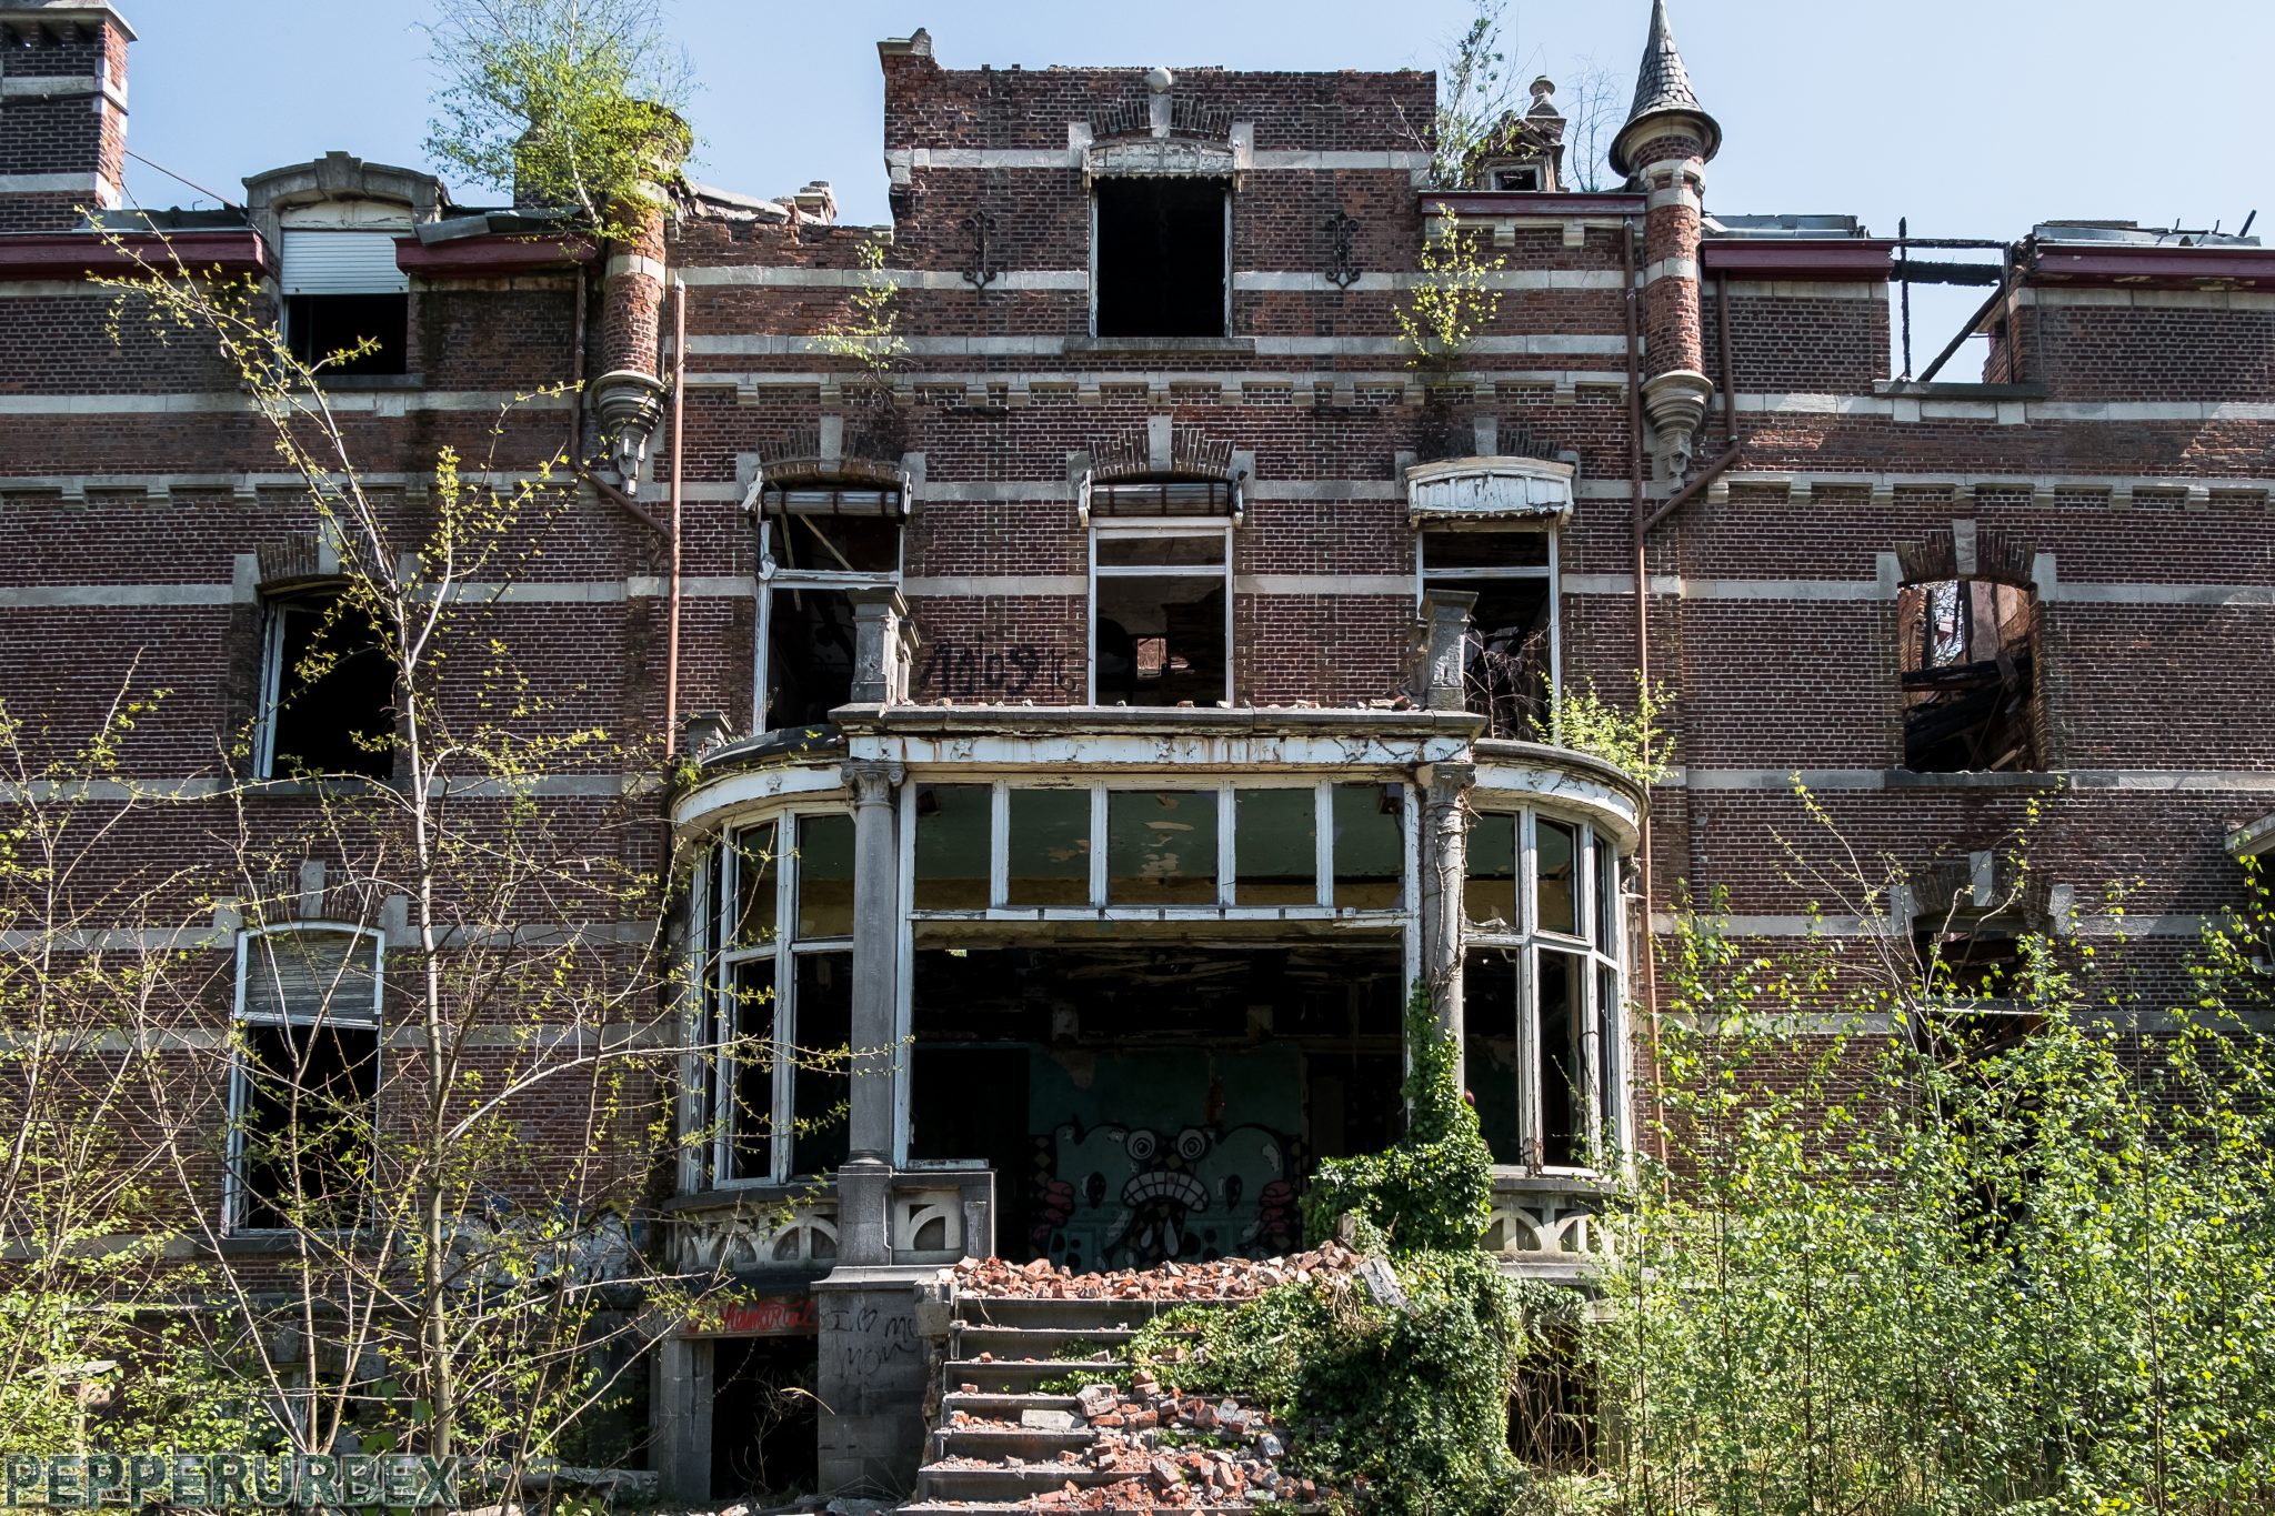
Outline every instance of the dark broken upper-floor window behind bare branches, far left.
{"type": "Polygon", "coordinates": [[[259,773],[396,771],[396,668],[369,611],[332,584],[268,600],[259,773]]]}

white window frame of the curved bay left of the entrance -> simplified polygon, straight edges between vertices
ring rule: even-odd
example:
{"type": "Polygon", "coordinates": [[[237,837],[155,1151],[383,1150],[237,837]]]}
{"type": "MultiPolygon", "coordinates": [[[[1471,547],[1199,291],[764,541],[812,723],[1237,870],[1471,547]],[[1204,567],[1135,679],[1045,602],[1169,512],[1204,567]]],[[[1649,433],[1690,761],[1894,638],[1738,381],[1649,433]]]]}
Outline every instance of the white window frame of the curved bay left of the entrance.
{"type": "MultiPolygon", "coordinates": [[[[799,1180],[814,1180],[814,1173],[799,1173],[796,1164],[796,1059],[774,1059],[769,1071],[769,1123],[774,1130],[767,1139],[767,1173],[764,1175],[739,1175],[735,1173],[735,1139],[739,1109],[735,1102],[735,1077],[739,1059],[728,1050],[735,1025],[735,1002],[733,1002],[733,980],[742,964],[758,959],[771,959],[774,964],[774,1030],[771,1039],[776,1048],[796,1048],[799,1030],[799,975],[796,959],[814,957],[826,952],[844,955],[846,968],[851,973],[853,961],[853,930],[846,923],[844,936],[801,936],[796,930],[799,911],[799,848],[783,846],[785,834],[796,836],[796,827],[803,821],[821,816],[842,816],[846,825],[853,823],[851,805],[799,805],[783,811],[771,811],[767,816],[753,816],[739,825],[721,832],[719,843],[710,850],[710,877],[705,880],[705,941],[703,950],[708,955],[708,966],[703,973],[703,1002],[705,1023],[710,1030],[710,1041],[717,1048],[710,1064],[710,1186],[712,1189],[751,1189],[751,1186],[783,1186],[799,1180]],[[742,898],[739,875],[739,841],[748,832],[760,832],[774,827],[774,939],[762,946],[735,948],[737,900],[742,898]],[[785,1136],[787,1134],[787,1141],[785,1136]]],[[[858,875],[855,859],[855,875],[858,875]]]]}

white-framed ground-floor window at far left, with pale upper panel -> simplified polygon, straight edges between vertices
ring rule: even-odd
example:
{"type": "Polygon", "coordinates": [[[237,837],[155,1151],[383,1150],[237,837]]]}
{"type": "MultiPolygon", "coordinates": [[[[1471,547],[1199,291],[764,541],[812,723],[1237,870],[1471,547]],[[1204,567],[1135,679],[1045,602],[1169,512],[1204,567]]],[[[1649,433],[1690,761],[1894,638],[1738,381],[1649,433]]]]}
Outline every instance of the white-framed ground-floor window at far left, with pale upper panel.
{"type": "Polygon", "coordinates": [[[344,1230],[371,1211],[380,936],[348,927],[237,941],[228,1225],[344,1230]]]}

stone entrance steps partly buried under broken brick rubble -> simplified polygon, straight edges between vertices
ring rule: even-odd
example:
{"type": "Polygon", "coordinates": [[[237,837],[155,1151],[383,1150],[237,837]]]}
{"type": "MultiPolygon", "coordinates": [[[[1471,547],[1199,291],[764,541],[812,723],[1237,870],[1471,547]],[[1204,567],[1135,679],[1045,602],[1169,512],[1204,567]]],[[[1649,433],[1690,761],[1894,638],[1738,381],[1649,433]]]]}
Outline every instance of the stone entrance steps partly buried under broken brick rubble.
{"type": "Polygon", "coordinates": [[[1128,1343],[1178,1300],[1028,1300],[958,1293],[951,1302],[940,1416],[908,1516],[962,1511],[1240,1511],[1249,1489],[1304,1502],[1269,1466],[1283,1432],[1235,1402],[1176,1400],[1138,1377],[1128,1343]],[[1049,1389],[1044,1389],[1049,1386],[1049,1389]],[[1072,1386],[1072,1389],[1069,1389],[1072,1386]],[[1199,1423],[1215,1448],[1192,1446],[1199,1423]],[[1176,1427],[1163,1439],[1160,1427],[1176,1427]]]}

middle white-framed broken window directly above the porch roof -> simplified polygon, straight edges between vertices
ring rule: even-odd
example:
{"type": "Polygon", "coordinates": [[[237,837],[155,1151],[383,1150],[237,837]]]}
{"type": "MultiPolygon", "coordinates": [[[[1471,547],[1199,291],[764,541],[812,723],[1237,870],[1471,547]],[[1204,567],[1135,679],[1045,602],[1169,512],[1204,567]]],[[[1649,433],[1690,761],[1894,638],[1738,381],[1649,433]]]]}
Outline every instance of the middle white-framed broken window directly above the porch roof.
{"type": "Polygon", "coordinates": [[[1233,695],[1231,527],[1097,527],[1090,702],[1222,705],[1233,695]]]}

